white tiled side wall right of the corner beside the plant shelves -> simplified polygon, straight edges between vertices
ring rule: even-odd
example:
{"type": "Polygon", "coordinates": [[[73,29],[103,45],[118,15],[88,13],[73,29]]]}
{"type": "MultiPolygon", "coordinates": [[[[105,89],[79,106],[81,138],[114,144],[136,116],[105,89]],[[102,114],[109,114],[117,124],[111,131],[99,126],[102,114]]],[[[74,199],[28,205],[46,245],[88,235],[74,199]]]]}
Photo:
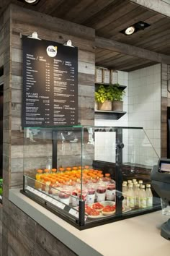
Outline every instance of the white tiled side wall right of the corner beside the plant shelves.
{"type": "Polygon", "coordinates": [[[129,72],[128,126],[143,127],[155,150],[144,143],[138,163],[155,163],[161,155],[161,64],[129,72]]]}

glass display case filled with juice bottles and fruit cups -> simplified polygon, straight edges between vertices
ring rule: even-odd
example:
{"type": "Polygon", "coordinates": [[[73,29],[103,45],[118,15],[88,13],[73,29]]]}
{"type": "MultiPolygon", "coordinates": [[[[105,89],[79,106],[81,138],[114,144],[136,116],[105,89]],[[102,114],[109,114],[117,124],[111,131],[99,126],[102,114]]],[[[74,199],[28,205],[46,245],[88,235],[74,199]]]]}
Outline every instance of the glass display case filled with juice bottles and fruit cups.
{"type": "Polygon", "coordinates": [[[23,162],[22,193],[78,229],[161,209],[143,128],[25,128],[23,162]]]}

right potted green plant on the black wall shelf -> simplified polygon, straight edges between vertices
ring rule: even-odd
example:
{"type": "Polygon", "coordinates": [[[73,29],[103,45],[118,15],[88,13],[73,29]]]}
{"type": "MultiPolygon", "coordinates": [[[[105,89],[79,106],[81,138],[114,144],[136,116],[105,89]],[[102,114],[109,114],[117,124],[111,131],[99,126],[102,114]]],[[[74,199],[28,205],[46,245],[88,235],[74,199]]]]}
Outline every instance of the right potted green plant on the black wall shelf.
{"type": "Polygon", "coordinates": [[[112,85],[112,111],[122,111],[122,97],[125,91],[119,88],[119,84],[112,85]]]}

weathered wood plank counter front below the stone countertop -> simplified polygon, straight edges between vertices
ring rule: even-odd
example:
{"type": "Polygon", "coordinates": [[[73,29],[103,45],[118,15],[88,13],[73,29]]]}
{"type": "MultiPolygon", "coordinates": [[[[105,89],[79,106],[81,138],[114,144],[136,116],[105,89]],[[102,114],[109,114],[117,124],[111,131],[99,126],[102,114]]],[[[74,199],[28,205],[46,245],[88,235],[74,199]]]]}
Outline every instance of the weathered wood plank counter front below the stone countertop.
{"type": "MultiPolygon", "coordinates": [[[[2,255],[76,255],[12,202],[4,201],[2,255]]],[[[0,247],[0,248],[1,248],[0,247]]]]}

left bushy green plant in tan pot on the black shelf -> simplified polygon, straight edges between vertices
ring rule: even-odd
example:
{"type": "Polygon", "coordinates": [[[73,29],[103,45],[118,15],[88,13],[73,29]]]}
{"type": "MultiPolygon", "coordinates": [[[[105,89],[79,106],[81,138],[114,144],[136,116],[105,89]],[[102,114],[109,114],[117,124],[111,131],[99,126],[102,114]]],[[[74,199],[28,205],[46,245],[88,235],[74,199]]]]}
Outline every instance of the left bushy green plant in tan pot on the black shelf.
{"type": "Polygon", "coordinates": [[[109,90],[109,86],[99,85],[95,92],[95,101],[98,103],[99,110],[112,110],[112,92],[109,90]]]}

